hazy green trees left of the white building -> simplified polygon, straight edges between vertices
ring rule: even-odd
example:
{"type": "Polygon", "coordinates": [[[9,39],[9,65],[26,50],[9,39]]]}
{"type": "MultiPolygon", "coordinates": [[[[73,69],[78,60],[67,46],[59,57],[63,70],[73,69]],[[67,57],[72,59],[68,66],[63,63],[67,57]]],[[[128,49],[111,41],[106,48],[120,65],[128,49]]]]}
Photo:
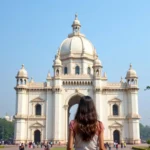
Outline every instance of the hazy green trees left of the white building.
{"type": "Polygon", "coordinates": [[[0,139],[8,140],[14,137],[14,122],[0,118],[0,139]]]}

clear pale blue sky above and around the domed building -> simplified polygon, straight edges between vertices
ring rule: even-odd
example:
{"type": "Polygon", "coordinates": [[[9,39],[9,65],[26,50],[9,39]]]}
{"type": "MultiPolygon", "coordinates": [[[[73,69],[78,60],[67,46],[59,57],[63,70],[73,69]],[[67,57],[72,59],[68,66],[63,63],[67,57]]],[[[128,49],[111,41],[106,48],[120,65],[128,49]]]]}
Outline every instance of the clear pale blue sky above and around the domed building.
{"type": "MultiPolygon", "coordinates": [[[[78,14],[81,32],[95,46],[109,82],[125,78],[132,63],[139,77],[140,122],[150,125],[149,0],[0,0],[0,117],[14,115],[15,76],[45,82],[61,42],[78,14]]],[[[125,79],[124,79],[125,80],[125,79]]]]}

